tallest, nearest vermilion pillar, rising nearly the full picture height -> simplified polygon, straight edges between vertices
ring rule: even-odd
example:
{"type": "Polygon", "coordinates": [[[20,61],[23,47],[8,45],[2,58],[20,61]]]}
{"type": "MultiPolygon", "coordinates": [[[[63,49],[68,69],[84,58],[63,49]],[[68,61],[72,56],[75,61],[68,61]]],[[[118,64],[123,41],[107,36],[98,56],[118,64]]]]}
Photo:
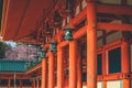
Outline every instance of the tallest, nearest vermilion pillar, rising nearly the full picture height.
{"type": "Polygon", "coordinates": [[[88,2],[87,7],[87,88],[97,88],[97,36],[96,4],[88,2]]]}

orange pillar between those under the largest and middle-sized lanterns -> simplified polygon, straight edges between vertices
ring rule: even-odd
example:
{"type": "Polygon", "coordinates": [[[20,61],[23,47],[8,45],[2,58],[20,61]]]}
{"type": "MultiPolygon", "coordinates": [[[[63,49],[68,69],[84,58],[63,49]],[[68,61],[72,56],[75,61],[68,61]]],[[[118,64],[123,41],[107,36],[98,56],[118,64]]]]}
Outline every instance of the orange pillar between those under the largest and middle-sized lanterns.
{"type": "Polygon", "coordinates": [[[63,88],[64,84],[64,72],[63,72],[63,48],[57,46],[57,88],[63,88]]]}

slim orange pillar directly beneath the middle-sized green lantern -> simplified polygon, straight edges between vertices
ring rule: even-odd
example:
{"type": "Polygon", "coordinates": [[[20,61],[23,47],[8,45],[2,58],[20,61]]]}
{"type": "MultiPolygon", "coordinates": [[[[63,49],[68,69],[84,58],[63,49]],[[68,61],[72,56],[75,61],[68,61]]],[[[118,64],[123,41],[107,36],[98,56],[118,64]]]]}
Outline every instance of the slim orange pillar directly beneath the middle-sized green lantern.
{"type": "Polygon", "coordinates": [[[54,54],[48,52],[48,88],[54,88],[54,54]]]}

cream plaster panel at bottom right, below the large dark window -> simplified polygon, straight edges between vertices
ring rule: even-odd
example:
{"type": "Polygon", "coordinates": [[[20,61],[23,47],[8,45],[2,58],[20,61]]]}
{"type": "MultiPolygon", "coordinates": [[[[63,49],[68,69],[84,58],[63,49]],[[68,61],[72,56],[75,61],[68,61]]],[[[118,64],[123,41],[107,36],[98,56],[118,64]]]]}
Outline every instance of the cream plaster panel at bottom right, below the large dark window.
{"type": "Polygon", "coordinates": [[[107,81],[107,88],[123,88],[122,80],[107,81]]]}

